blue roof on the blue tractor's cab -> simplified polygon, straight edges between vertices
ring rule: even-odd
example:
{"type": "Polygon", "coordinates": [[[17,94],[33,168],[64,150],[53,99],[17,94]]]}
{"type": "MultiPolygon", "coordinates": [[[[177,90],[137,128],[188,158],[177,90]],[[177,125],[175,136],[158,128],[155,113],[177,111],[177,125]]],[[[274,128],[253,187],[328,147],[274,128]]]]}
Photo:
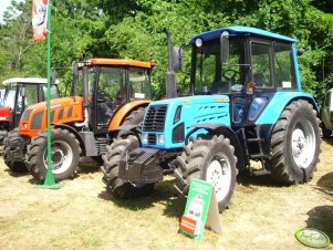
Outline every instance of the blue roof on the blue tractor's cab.
{"type": "Polygon", "coordinates": [[[189,44],[194,45],[196,39],[198,39],[198,38],[202,39],[204,42],[208,42],[208,41],[211,41],[211,40],[219,39],[223,31],[228,31],[229,34],[249,34],[249,35],[253,35],[253,37],[269,39],[269,40],[280,40],[280,41],[283,41],[283,42],[287,42],[287,43],[294,43],[296,41],[295,39],[292,39],[292,38],[289,38],[289,37],[282,35],[282,34],[273,33],[273,32],[270,32],[270,31],[257,29],[257,28],[251,28],[251,27],[227,27],[227,28],[220,28],[220,29],[217,29],[217,30],[212,30],[212,31],[208,31],[208,32],[197,34],[189,41],[189,44]]]}

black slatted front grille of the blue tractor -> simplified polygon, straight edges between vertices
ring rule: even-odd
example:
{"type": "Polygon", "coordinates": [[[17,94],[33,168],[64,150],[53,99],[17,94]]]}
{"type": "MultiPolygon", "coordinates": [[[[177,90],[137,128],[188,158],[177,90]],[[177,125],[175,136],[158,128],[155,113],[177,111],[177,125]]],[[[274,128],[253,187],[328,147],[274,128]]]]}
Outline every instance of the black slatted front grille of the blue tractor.
{"type": "Polygon", "coordinates": [[[163,132],[166,113],[167,105],[149,106],[144,123],[144,131],[163,132]]]}

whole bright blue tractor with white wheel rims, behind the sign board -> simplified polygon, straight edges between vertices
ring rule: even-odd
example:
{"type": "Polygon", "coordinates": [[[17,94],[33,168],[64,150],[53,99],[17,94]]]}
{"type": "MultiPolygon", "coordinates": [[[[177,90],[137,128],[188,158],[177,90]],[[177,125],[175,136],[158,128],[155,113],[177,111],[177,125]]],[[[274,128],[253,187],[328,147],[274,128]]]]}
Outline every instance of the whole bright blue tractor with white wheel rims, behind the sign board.
{"type": "Polygon", "coordinates": [[[295,40],[230,27],[189,44],[190,95],[150,103],[139,133],[118,128],[102,167],[107,190],[122,198],[147,195],[171,171],[184,195],[191,178],[214,184],[222,211],[239,170],[287,185],[311,179],[321,132],[316,103],[301,87],[295,40]]]}

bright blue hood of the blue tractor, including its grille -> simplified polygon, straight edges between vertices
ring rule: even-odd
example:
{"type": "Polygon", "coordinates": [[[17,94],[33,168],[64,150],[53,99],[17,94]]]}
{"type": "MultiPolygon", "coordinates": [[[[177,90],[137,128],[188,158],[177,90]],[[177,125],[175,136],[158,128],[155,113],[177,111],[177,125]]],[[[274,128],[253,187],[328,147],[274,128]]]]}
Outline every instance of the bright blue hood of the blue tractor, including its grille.
{"type": "Polygon", "coordinates": [[[150,103],[143,123],[142,144],[164,149],[180,148],[196,124],[230,126],[229,96],[199,95],[150,103]]]}

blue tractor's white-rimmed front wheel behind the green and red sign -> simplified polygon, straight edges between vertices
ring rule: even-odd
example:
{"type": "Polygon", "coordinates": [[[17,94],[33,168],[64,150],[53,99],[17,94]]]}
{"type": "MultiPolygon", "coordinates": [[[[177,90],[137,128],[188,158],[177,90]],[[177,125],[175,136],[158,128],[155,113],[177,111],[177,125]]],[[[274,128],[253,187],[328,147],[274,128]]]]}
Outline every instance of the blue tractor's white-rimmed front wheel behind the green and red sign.
{"type": "Polygon", "coordinates": [[[177,189],[187,195],[191,178],[212,184],[219,211],[222,212],[229,206],[233,194],[238,173],[236,164],[233,147],[222,135],[192,139],[184,146],[184,153],[175,160],[177,189]]]}

